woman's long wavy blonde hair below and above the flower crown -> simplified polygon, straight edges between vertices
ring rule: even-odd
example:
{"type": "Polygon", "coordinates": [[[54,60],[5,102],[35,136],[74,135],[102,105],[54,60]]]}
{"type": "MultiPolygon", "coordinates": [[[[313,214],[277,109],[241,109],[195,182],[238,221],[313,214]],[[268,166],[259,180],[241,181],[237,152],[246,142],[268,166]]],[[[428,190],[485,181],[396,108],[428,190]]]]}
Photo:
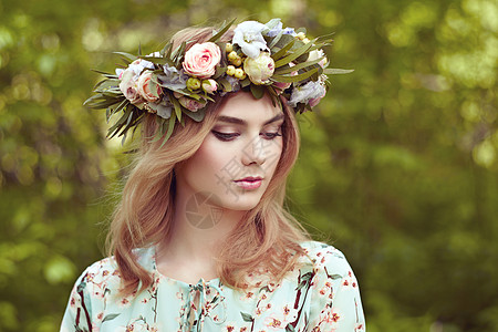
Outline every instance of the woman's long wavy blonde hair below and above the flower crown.
{"type": "MultiPolygon", "coordinates": [[[[222,41],[231,39],[231,34],[228,31],[222,41]]],[[[190,28],[173,39],[178,45],[183,41],[201,43],[211,35],[212,28],[190,28]]],[[[164,146],[160,146],[160,139],[153,142],[157,131],[155,115],[147,114],[144,120],[142,145],[107,236],[110,255],[114,255],[121,272],[123,293],[152,284],[152,276],[137,262],[133,249],[157,245],[169,236],[176,190],[174,167],[200,147],[222,102],[222,97],[217,97],[210,103],[200,123],[185,117],[185,126],[177,124],[164,146]]],[[[245,214],[217,257],[220,280],[234,289],[248,287],[246,276],[261,269],[273,280],[280,280],[294,267],[299,253],[303,253],[300,242],[309,239],[283,207],[286,181],[298,158],[300,137],[293,111],[284,101],[282,105],[283,146],[273,177],[258,205],[245,214]]]]}

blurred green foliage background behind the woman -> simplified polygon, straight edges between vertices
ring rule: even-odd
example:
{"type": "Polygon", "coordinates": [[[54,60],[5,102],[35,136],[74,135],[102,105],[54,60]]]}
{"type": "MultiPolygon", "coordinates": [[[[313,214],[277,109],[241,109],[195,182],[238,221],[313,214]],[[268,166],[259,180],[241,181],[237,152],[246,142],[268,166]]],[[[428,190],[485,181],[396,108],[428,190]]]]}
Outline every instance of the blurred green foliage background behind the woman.
{"type": "Polygon", "coordinates": [[[370,332],[498,331],[492,0],[2,0],[0,331],[58,331],[127,157],[82,106],[111,51],[237,17],[335,32],[289,206],[349,258],[370,332]]]}

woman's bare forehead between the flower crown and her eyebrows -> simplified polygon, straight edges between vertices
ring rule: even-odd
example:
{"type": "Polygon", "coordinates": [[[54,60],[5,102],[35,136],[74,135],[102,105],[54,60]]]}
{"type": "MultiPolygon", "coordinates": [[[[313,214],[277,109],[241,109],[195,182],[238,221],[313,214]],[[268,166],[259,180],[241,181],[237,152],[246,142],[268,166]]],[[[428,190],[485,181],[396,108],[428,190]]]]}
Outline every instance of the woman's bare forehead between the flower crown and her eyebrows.
{"type": "Polygon", "coordinates": [[[257,100],[248,92],[238,92],[227,97],[221,105],[219,116],[231,116],[241,118],[248,123],[264,123],[276,115],[283,113],[277,103],[274,106],[271,98],[264,95],[257,100]]]}

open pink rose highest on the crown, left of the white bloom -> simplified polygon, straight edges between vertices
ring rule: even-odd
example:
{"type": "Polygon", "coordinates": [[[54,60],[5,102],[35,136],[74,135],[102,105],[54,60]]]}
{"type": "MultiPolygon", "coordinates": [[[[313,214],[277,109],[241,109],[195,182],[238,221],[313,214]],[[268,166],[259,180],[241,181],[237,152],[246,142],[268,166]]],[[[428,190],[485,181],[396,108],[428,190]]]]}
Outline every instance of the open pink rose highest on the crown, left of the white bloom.
{"type": "Polygon", "coordinates": [[[211,42],[195,44],[185,52],[184,70],[197,79],[209,79],[216,72],[216,65],[221,61],[221,51],[211,42]]]}

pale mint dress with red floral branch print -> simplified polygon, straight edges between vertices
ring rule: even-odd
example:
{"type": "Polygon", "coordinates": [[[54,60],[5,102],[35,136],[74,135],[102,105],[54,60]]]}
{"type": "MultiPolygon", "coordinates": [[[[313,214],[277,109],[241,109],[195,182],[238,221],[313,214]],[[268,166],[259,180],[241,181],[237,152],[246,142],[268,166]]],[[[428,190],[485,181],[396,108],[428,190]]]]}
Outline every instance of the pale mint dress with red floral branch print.
{"type": "Polygon", "coordinates": [[[189,284],[163,276],[151,247],[137,256],[153,284],[120,297],[115,261],[103,259],[74,284],[61,331],[364,332],[357,281],[342,252],[315,241],[301,246],[308,257],[280,282],[250,273],[257,287],[243,291],[219,279],[189,284]]]}

